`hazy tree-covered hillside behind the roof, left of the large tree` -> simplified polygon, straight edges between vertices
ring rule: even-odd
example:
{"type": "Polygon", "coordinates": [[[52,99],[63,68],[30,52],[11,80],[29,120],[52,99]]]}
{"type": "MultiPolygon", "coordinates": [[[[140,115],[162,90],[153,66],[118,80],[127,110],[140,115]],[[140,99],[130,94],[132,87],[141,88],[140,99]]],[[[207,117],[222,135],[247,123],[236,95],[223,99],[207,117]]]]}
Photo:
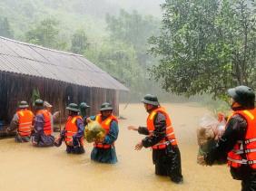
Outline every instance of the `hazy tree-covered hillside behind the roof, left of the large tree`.
{"type": "MultiPolygon", "coordinates": [[[[148,0],[140,4],[141,10],[149,4],[159,12],[160,2],[148,0]]],[[[161,91],[148,80],[147,68],[157,62],[146,53],[147,39],[159,33],[159,15],[131,10],[129,5],[135,1],[123,4],[129,11],[115,0],[3,0],[0,18],[6,17],[9,24],[0,32],[27,43],[83,54],[130,88],[133,100],[140,100],[145,92],[161,91]]]]}

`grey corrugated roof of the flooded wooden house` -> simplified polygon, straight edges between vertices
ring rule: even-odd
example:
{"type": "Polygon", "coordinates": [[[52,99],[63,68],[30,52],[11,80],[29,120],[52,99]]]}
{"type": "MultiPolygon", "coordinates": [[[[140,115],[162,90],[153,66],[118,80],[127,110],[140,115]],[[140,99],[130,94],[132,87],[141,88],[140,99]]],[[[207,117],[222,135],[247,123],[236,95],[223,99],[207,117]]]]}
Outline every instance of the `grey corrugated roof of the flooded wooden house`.
{"type": "Polygon", "coordinates": [[[86,87],[129,91],[82,55],[64,53],[0,36],[0,71],[86,87]]]}

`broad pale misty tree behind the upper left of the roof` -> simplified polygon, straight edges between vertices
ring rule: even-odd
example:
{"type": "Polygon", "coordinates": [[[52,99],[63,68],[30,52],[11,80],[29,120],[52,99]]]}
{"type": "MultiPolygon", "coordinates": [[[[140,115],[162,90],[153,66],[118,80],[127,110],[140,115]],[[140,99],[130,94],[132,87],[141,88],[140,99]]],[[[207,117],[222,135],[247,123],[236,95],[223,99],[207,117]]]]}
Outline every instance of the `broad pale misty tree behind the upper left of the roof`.
{"type": "Polygon", "coordinates": [[[25,33],[25,39],[28,43],[35,43],[48,48],[63,47],[64,44],[58,41],[58,24],[55,19],[46,18],[25,33]]]}

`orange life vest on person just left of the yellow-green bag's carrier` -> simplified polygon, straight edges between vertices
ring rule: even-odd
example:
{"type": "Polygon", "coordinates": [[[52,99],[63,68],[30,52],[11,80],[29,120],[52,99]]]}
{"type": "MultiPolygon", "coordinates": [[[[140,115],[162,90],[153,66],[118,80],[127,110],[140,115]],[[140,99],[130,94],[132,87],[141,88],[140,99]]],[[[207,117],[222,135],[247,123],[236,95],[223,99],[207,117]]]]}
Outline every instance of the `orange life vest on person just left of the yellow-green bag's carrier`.
{"type": "MultiPolygon", "coordinates": [[[[76,125],[76,120],[77,119],[81,119],[82,120],[82,117],[81,116],[74,116],[74,117],[71,117],[69,116],[66,123],[65,123],[65,142],[70,142],[70,141],[73,141],[73,136],[74,134],[77,133],[78,131],[78,128],[77,128],[77,125],[76,125]]],[[[81,144],[84,145],[84,142],[83,142],[83,138],[81,138],[81,144]]]]}

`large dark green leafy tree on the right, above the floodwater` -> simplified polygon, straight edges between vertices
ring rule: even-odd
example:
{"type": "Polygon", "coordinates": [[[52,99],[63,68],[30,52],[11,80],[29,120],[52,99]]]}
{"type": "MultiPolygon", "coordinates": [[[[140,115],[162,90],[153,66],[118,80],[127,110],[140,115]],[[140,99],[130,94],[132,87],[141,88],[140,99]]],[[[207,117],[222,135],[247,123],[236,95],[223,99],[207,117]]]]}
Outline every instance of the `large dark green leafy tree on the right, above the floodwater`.
{"type": "Polygon", "coordinates": [[[255,6],[245,0],[166,0],[160,36],[149,53],[160,58],[151,76],[162,88],[222,98],[227,88],[256,87],[255,6]]]}

